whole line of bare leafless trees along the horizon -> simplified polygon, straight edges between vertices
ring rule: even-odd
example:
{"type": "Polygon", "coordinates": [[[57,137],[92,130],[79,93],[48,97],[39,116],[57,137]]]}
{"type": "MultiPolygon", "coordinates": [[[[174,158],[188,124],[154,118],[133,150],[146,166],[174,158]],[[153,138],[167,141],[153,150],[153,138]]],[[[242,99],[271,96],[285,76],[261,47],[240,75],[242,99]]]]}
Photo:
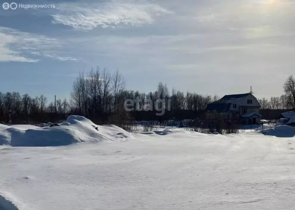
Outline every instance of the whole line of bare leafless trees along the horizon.
{"type": "MultiPolygon", "coordinates": [[[[295,79],[292,75],[283,88],[285,94],[280,97],[258,99],[262,110],[294,110],[295,79]]],[[[70,98],[57,99],[56,106],[55,102],[48,102],[44,95],[30,97],[28,94],[21,96],[18,92],[0,92],[0,122],[8,123],[10,119],[12,123],[52,122],[65,119],[70,114],[83,115],[97,124],[124,120],[202,119],[207,104],[218,99],[218,96],[184,93],[174,88],[169,92],[162,82],[154,92],[129,91],[125,89],[125,80],[118,70],[111,72],[97,67],[86,74],[80,73],[73,82],[70,98]],[[154,109],[126,112],[123,108],[126,99],[134,100],[134,107],[144,107],[147,101],[164,99],[162,107],[167,111],[163,116],[156,116],[154,109]]]]}

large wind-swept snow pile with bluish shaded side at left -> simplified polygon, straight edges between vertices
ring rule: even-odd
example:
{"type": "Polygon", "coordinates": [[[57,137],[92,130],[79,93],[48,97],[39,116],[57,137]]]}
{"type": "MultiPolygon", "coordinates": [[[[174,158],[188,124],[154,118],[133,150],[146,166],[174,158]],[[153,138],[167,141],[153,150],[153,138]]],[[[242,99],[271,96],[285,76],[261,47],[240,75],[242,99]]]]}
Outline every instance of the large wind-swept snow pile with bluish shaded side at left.
{"type": "Polygon", "coordinates": [[[58,126],[53,127],[16,127],[0,124],[0,145],[13,147],[63,146],[74,143],[114,141],[125,139],[130,133],[120,127],[98,126],[83,116],[71,115],[58,126]]]}

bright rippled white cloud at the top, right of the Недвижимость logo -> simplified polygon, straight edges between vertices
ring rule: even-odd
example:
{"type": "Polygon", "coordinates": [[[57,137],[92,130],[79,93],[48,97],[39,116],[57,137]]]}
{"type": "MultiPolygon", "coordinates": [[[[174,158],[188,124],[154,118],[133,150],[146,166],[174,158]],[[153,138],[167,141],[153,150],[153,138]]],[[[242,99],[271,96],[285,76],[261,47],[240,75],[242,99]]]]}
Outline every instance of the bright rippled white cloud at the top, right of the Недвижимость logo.
{"type": "Polygon", "coordinates": [[[95,27],[115,27],[119,24],[140,26],[152,24],[155,17],[172,13],[148,1],[113,0],[103,3],[62,3],[56,5],[58,12],[52,14],[55,24],[75,29],[91,30],[95,27]]]}

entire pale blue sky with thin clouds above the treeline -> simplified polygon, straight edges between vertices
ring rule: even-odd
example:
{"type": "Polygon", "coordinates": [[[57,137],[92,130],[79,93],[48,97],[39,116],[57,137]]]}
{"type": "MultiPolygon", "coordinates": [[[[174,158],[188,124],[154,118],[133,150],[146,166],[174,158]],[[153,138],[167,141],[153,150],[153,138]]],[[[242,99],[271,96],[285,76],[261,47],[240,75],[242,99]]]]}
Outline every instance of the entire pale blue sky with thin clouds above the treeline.
{"type": "Polygon", "coordinates": [[[69,97],[77,74],[100,66],[140,92],[159,81],[220,96],[252,85],[269,98],[294,73],[291,0],[15,2],[55,8],[0,7],[2,92],[69,97]]]}

